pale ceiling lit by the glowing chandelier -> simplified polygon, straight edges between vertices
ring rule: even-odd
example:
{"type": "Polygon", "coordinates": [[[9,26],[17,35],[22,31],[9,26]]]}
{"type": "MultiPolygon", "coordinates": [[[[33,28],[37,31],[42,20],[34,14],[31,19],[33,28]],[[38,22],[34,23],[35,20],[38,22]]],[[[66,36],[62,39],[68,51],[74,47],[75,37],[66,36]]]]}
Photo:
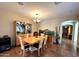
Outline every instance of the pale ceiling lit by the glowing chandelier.
{"type": "Polygon", "coordinates": [[[78,2],[0,2],[0,9],[10,10],[25,15],[32,19],[35,12],[38,12],[39,19],[55,19],[71,17],[79,14],[78,2]]]}

